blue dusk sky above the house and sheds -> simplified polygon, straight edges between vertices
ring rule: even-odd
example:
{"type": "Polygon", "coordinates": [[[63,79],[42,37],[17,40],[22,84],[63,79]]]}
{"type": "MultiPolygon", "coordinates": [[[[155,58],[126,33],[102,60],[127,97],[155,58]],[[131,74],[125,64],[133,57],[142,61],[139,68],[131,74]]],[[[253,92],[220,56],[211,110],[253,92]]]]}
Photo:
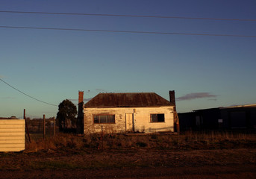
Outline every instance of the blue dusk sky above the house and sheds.
{"type": "Polygon", "coordinates": [[[255,9],[255,0],[1,0],[0,117],[22,118],[23,109],[31,118],[56,116],[64,99],[78,104],[79,90],[85,103],[99,92],[156,92],[169,100],[175,90],[178,113],[255,104],[255,9]]]}

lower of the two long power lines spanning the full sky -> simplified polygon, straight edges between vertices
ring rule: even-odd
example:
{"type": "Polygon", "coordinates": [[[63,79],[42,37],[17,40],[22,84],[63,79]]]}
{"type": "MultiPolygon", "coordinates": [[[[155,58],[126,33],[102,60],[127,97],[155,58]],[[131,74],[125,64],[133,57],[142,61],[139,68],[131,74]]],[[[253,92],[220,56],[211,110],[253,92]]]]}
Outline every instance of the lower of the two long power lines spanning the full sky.
{"type": "Polygon", "coordinates": [[[256,37],[253,35],[236,35],[236,34],[196,34],[196,33],[178,33],[178,32],[160,32],[160,31],[116,31],[100,29],[83,29],[83,28],[43,28],[43,27],[22,27],[22,26],[5,26],[0,28],[19,28],[19,29],[37,29],[37,30],[56,30],[56,31],[96,31],[112,33],[131,33],[131,34],[166,34],[166,35],[192,35],[192,36],[218,36],[218,37],[256,37]]]}

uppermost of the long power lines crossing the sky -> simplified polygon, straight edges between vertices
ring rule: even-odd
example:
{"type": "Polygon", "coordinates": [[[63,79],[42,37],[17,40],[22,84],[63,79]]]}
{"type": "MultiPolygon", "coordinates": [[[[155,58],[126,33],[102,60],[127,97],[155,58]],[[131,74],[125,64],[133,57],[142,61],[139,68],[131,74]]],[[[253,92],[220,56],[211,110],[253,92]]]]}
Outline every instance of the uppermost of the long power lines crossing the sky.
{"type": "Polygon", "coordinates": [[[11,11],[0,10],[0,13],[34,13],[34,14],[54,14],[54,15],[75,15],[75,16],[120,16],[120,17],[147,17],[162,19],[199,19],[199,20],[222,20],[222,21],[255,21],[256,19],[228,19],[228,18],[205,18],[205,17],[186,17],[186,16],[144,16],[144,15],[125,15],[109,13],[54,13],[54,12],[28,12],[28,11],[11,11]]]}

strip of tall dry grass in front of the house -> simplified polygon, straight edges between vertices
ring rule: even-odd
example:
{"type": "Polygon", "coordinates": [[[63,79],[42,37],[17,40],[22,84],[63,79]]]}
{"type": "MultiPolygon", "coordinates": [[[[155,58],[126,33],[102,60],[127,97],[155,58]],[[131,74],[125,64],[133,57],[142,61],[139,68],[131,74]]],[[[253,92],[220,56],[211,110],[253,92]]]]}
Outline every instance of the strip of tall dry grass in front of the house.
{"type": "MultiPolygon", "coordinates": [[[[32,137],[33,138],[33,137],[32,137]]],[[[229,132],[184,134],[58,134],[46,139],[32,139],[26,151],[63,150],[99,151],[110,149],[155,148],[171,150],[252,148],[256,145],[255,134],[233,134],[229,132]],[[74,150],[76,149],[76,150],[74,150]]]]}

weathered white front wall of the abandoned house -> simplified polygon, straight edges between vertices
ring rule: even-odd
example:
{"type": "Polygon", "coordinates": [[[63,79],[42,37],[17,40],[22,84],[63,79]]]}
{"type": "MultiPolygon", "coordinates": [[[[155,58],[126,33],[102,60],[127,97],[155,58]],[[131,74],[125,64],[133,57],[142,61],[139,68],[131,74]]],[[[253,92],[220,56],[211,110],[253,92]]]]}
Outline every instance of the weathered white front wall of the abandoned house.
{"type": "Polygon", "coordinates": [[[127,114],[133,116],[133,129],[140,132],[174,131],[173,107],[113,107],[113,108],[84,108],[84,134],[99,133],[124,133],[128,128],[127,114]],[[164,113],[164,122],[150,122],[150,114],[164,113]],[[93,115],[115,115],[115,124],[94,124],[93,115]]]}

